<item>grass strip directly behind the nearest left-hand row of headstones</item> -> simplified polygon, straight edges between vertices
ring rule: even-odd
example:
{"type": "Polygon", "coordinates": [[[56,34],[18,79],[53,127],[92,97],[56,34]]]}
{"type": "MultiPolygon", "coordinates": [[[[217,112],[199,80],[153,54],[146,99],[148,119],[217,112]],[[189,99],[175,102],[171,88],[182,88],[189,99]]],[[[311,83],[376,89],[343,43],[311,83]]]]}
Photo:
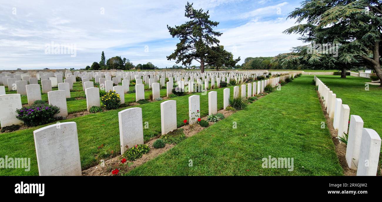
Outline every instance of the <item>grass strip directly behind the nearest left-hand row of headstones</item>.
{"type": "MultiPolygon", "coordinates": [[[[230,87],[231,96],[233,96],[233,86],[230,87]]],[[[166,90],[166,89],[162,89],[166,90]]],[[[216,89],[218,99],[218,109],[223,108],[223,88],[216,89]]],[[[145,92],[145,93],[151,93],[145,92]]],[[[127,96],[135,94],[127,94],[127,96]]],[[[192,94],[201,95],[201,93],[192,94]]],[[[178,127],[183,126],[183,120],[188,117],[188,97],[185,95],[176,97],[176,112],[178,127]]],[[[125,95],[126,98],[126,95],[125,95]]],[[[76,100],[70,101],[74,102],[76,100]]],[[[146,103],[132,107],[142,108],[143,122],[149,123],[149,128],[143,130],[144,139],[149,140],[151,137],[159,135],[161,132],[160,126],[160,103],[163,101],[146,103]]],[[[68,103],[68,108],[69,108],[68,103]]],[[[86,108],[86,100],[85,100],[86,108]]],[[[131,107],[126,107],[131,108],[131,107]]],[[[120,153],[120,138],[118,125],[118,112],[126,108],[117,110],[105,111],[97,114],[90,114],[73,119],[63,120],[61,122],[74,121],[77,123],[79,151],[81,156],[82,169],[89,168],[99,163],[99,159],[104,159],[109,156],[120,153]],[[99,146],[104,145],[102,149],[99,146]],[[113,154],[112,154],[113,151],[113,154]]],[[[200,111],[201,116],[208,115],[208,95],[200,96],[200,111]]],[[[47,124],[49,125],[49,124],[47,124]]],[[[44,126],[47,126],[44,125],[44,126]]],[[[38,175],[36,151],[33,139],[33,130],[44,127],[31,127],[24,130],[18,130],[11,133],[0,134],[0,156],[4,157],[30,157],[31,170],[24,172],[24,169],[0,169],[0,176],[3,175],[38,175]]]]}

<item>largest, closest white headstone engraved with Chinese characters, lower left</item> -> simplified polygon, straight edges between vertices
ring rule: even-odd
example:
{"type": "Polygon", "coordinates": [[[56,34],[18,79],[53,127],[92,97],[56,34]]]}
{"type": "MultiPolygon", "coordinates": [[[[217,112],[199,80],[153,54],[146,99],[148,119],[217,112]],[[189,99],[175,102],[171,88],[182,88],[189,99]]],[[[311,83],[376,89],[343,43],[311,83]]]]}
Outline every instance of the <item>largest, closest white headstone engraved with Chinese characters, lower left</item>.
{"type": "Polygon", "coordinates": [[[81,176],[76,122],[64,122],[33,131],[40,176],[81,176]]]}

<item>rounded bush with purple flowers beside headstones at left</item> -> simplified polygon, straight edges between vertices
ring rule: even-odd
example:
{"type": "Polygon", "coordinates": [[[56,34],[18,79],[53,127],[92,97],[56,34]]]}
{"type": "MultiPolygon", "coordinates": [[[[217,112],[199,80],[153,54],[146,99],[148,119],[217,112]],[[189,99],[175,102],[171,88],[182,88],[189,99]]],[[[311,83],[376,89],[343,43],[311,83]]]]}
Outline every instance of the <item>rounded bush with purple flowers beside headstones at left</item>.
{"type": "Polygon", "coordinates": [[[29,107],[16,110],[18,114],[16,118],[23,121],[26,126],[40,126],[58,119],[55,115],[60,113],[60,108],[37,101],[39,100],[36,100],[36,102],[29,107]]]}

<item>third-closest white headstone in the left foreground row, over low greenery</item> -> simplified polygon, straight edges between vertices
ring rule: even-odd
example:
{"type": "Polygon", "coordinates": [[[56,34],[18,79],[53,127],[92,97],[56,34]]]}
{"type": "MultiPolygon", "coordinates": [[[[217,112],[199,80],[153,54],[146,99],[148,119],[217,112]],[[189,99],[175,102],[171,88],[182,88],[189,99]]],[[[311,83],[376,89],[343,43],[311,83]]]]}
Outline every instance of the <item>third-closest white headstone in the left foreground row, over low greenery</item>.
{"type": "Polygon", "coordinates": [[[176,101],[167,100],[160,103],[162,135],[176,129],[176,101]]]}

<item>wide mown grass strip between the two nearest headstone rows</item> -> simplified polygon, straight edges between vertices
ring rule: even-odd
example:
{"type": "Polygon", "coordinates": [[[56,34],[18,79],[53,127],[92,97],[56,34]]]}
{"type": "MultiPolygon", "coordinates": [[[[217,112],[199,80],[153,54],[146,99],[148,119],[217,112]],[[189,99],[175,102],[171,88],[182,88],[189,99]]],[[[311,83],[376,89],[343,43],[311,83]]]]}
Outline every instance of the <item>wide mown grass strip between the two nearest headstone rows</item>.
{"type": "Polygon", "coordinates": [[[302,76],[127,175],[342,175],[322,121],[311,77],[302,76]],[[294,170],[262,168],[268,156],[293,157],[294,170]]]}

